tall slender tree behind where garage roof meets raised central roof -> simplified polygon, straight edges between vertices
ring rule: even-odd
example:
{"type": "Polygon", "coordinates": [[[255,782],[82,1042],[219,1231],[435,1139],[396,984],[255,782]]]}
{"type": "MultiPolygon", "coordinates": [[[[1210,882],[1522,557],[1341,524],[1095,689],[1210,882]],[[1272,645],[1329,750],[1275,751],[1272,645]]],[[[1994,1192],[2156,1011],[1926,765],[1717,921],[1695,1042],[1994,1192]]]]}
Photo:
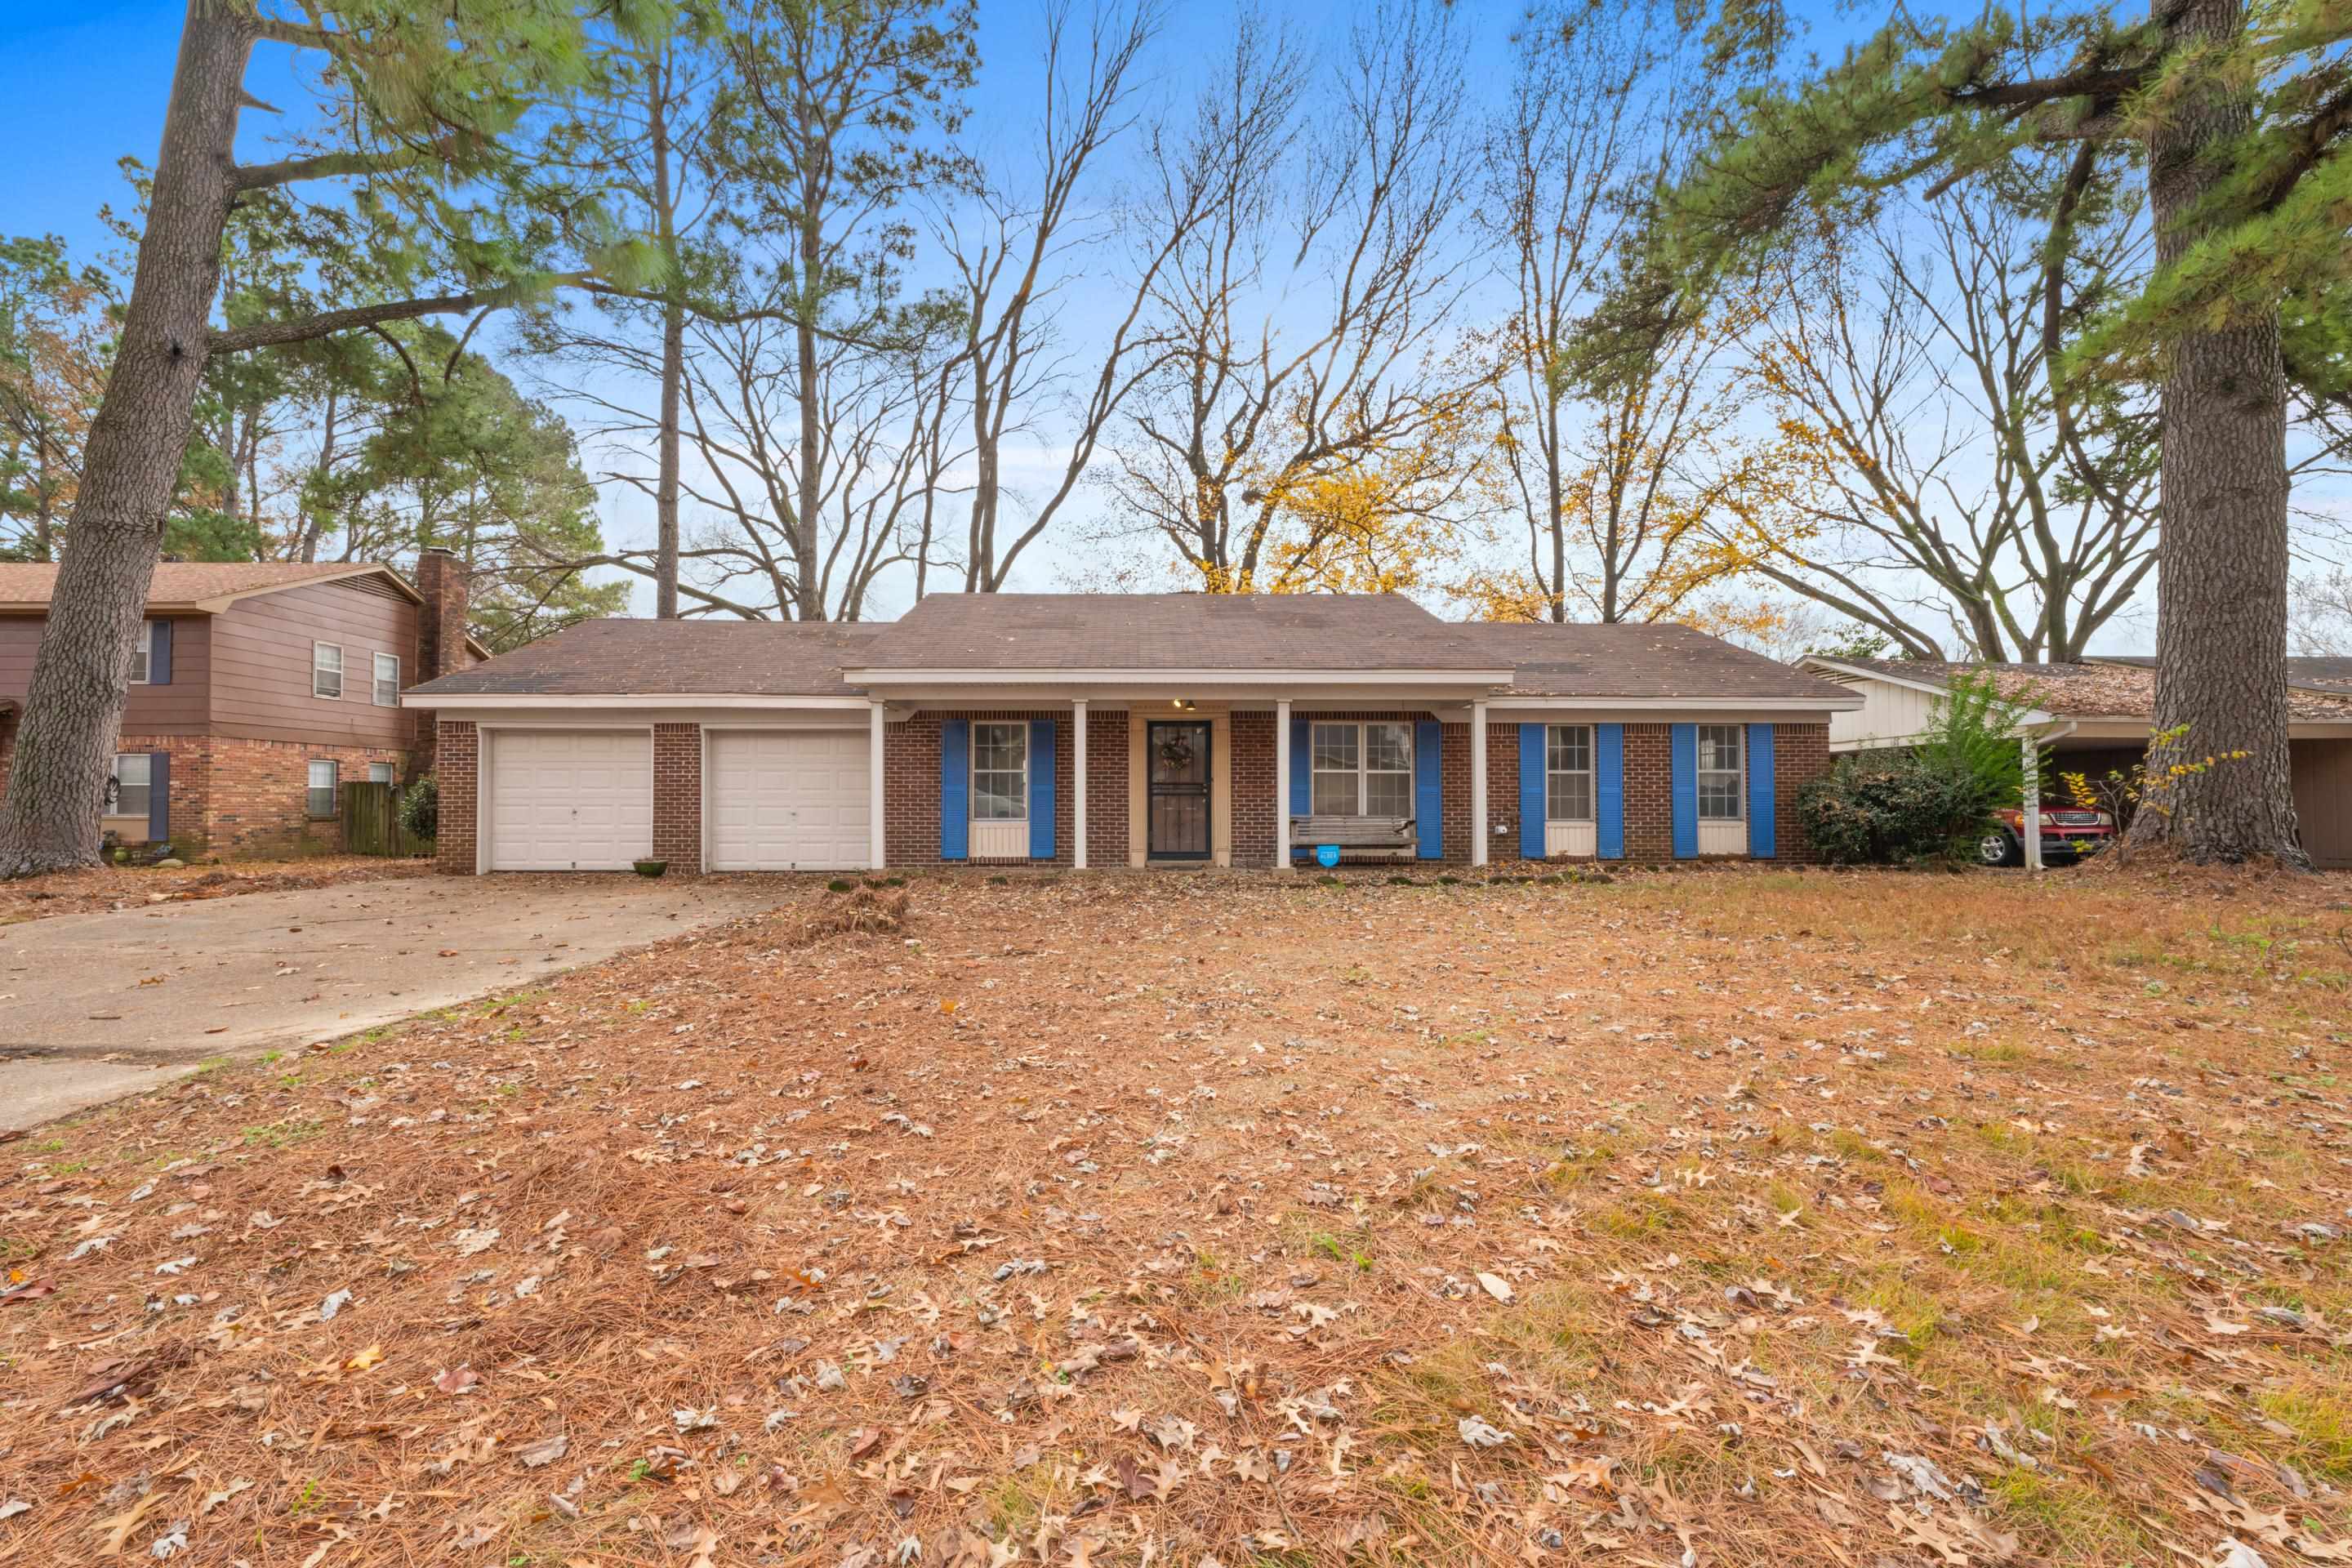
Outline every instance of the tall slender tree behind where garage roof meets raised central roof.
{"type": "Polygon", "coordinates": [[[903,395],[910,362],[950,317],[938,301],[903,301],[898,280],[915,242],[906,207],[969,183],[953,136],[976,68],[974,26],[969,0],[741,0],[729,14],[717,158],[743,252],[736,296],[706,313],[720,371],[689,378],[701,383],[699,397],[689,386],[689,416],[706,451],[715,440],[729,461],[788,480],[720,510],[774,529],[736,543],[750,559],[774,557],[767,576],[800,621],[856,614],[868,564],[894,552],[863,531],[828,536],[828,522],[896,517],[903,508],[877,496],[896,484],[898,461],[922,451],[884,440],[875,418],[915,416],[903,395]],[[793,430],[788,454],[750,428],[755,409],[793,430]],[[835,458],[851,468],[833,470],[835,458]],[[873,482],[884,491],[861,489],[873,482]]]}

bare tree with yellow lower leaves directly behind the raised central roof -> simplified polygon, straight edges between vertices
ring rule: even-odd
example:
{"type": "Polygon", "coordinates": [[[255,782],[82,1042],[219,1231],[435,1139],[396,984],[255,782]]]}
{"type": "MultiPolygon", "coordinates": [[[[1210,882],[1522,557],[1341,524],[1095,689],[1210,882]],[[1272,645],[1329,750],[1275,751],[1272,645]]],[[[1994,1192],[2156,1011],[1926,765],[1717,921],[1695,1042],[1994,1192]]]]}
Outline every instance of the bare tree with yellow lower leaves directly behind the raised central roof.
{"type": "Polygon", "coordinates": [[[1442,5],[1362,16],[1324,89],[1242,16],[1190,127],[1155,139],[1167,353],[1112,437],[1112,531],[1221,592],[1399,585],[1432,552],[1475,397],[1442,353],[1468,277],[1463,120],[1442,5]]]}

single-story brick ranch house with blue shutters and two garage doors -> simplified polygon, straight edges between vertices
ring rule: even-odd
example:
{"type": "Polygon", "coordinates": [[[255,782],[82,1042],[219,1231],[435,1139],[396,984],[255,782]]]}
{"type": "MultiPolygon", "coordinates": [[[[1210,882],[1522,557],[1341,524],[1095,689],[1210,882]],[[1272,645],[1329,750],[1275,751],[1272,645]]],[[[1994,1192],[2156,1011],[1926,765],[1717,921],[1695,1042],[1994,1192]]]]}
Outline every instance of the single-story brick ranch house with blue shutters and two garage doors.
{"type": "Polygon", "coordinates": [[[586,621],[402,701],[440,715],[459,875],[1804,860],[1797,785],[1858,703],[1686,628],[1395,595],[586,621]]]}

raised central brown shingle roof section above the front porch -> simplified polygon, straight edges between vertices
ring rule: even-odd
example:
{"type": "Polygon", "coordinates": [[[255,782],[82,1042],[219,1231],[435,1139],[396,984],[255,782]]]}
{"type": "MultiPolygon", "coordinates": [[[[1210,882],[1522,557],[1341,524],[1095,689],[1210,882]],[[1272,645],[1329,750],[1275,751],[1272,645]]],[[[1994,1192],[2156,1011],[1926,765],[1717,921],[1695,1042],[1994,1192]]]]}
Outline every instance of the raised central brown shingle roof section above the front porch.
{"type": "Polygon", "coordinates": [[[875,642],[870,670],[1494,670],[1402,595],[941,592],[875,642]]]}

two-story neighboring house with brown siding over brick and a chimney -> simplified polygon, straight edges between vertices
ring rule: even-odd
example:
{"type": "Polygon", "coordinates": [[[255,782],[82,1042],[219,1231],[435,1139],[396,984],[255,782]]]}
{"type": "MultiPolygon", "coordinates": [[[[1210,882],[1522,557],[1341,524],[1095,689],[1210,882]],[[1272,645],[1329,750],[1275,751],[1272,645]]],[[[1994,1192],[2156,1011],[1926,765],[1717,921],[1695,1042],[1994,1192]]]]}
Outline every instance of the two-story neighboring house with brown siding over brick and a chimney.
{"type": "MultiPolygon", "coordinates": [[[[56,567],[0,564],[0,783],[24,722],[56,567]]],[[[433,715],[400,693],[487,658],[466,569],[162,562],[132,656],[103,827],[183,856],[339,849],[339,788],[430,769],[433,715]]]]}

